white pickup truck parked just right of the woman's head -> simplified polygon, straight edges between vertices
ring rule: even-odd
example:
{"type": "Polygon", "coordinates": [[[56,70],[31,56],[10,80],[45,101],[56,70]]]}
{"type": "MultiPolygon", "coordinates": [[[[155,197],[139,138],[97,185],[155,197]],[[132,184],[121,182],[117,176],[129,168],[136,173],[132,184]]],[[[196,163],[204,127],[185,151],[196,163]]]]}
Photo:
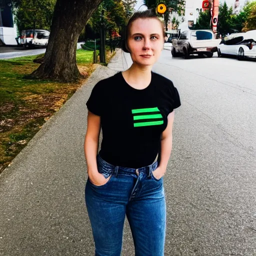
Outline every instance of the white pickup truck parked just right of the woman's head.
{"type": "Polygon", "coordinates": [[[191,54],[212,57],[221,41],[213,38],[211,30],[182,31],[178,39],[172,40],[171,54],[173,57],[183,55],[184,58],[189,58],[191,54]]]}

